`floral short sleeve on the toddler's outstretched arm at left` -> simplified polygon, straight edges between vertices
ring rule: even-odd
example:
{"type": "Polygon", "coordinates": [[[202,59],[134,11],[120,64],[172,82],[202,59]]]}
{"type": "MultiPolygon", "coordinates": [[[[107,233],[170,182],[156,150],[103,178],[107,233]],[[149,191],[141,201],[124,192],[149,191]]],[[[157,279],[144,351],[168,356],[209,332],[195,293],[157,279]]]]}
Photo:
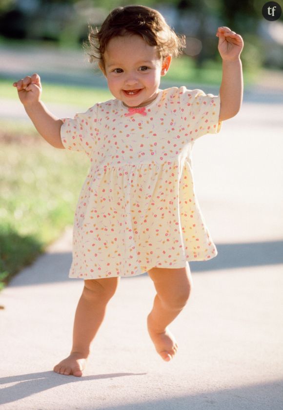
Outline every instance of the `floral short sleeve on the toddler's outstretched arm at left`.
{"type": "Polygon", "coordinates": [[[61,118],[61,141],[66,149],[85,151],[87,155],[95,148],[98,135],[97,117],[99,104],[84,113],[77,113],[74,119],[61,118]]]}

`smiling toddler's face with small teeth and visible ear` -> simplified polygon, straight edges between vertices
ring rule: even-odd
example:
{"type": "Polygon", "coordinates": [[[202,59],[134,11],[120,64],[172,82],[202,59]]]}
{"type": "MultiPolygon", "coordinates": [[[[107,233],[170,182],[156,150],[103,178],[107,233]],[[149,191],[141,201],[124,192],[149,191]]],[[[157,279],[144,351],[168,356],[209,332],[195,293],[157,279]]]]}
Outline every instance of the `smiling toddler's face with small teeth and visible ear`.
{"type": "Polygon", "coordinates": [[[104,53],[108,87],[128,107],[142,107],[157,95],[161,76],[169,69],[171,56],[158,59],[156,46],[138,35],[111,39],[104,53]]]}

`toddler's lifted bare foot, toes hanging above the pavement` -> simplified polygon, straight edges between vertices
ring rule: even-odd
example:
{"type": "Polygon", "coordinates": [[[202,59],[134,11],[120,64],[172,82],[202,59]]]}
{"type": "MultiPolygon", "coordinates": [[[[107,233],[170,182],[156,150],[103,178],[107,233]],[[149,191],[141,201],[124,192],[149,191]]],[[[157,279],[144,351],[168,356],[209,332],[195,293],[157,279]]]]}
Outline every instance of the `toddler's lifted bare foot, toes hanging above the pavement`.
{"type": "Polygon", "coordinates": [[[162,359],[166,362],[173,359],[177,352],[178,345],[170,330],[168,328],[165,328],[163,332],[154,330],[150,320],[150,314],[147,316],[147,329],[155,349],[161,355],[162,359]]]}

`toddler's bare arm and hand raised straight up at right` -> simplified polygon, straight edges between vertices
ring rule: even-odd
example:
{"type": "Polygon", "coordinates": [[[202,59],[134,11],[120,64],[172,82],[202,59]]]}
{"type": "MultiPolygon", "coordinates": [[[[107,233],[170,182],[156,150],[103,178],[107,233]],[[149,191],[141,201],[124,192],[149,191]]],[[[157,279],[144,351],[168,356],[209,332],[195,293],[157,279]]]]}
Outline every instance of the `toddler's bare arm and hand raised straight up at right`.
{"type": "Polygon", "coordinates": [[[222,57],[219,121],[224,121],[240,111],[243,101],[243,70],[240,59],[243,39],[228,27],[219,27],[216,36],[219,37],[218,49],[222,57]]]}

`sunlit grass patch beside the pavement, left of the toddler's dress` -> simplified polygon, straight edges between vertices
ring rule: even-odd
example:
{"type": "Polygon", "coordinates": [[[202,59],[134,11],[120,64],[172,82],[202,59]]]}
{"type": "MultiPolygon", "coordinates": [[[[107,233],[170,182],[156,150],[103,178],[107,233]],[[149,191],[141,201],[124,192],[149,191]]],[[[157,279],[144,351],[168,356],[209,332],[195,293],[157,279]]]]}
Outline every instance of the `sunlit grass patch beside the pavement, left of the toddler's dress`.
{"type": "Polygon", "coordinates": [[[0,288],[73,224],[89,164],[36,132],[0,136],[0,288]]]}

